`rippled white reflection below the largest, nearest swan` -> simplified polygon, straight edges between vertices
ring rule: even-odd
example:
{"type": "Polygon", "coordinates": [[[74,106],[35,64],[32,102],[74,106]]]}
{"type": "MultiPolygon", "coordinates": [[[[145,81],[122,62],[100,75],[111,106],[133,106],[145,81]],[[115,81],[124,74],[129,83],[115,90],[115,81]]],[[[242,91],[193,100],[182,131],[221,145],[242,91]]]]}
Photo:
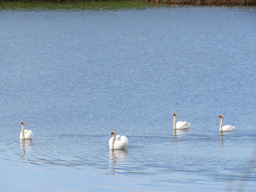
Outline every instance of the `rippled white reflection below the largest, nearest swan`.
{"type": "MultiPolygon", "coordinates": [[[[109,150],[109,163],[112,171],[118,171],[117,166],[118,165],[124,165],[125,159],[128,155],[128,150],[122,149],[122,150],[109,150]]],[[[120,170],[119,170],[120,171],[120,170]]]]}

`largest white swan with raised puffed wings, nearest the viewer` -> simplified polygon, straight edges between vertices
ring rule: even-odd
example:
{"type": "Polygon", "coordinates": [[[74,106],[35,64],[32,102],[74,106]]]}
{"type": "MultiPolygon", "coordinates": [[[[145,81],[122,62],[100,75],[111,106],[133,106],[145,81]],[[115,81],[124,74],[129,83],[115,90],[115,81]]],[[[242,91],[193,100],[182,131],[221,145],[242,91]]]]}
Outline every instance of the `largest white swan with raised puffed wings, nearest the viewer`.
{"type": "Polygon", "coordinates": [[[128,145],[128,138],[126,136],[117,135],[115,131],[112,131],[110,136],[112,136],[109,140],[110,150],[124,149],[128,145]]]}

